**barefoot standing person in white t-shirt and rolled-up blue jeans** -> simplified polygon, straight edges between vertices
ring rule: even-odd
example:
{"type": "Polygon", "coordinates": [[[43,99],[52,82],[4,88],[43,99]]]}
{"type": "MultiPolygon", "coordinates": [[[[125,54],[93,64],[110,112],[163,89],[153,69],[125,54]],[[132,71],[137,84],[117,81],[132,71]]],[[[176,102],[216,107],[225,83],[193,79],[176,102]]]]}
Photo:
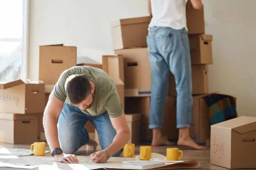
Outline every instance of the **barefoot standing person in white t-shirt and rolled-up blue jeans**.
{"type": "Polygon", "coordinates": [[[170,70],[175,76],[177,91],[177,144],[200,150],[206,147],[195,143],[189,134],[193,101],[186,3],[191,3],[195,9],[201,9],[203,4],[201,0],[187,1],[148,0],[148,12],[152,15],[147,36],[152,75],[149,128],[153,129],[152,146],[173,144],[163,139],[160,130],[170,70]]]}

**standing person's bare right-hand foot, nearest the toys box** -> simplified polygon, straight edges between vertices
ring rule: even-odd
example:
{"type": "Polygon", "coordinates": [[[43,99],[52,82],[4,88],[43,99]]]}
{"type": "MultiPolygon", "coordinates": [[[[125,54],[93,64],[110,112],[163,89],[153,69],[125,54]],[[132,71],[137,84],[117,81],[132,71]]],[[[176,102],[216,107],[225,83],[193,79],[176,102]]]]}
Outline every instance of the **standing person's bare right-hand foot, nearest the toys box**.
{"type": "Polygon", "coordinates": [[[205,146],[201,146],[197,144],[193,139],[191,139],[190,134],[189,134],[189,128],[180,128],[180,133],[179,133],[179,140],[177,144],[179,146],[187,146],[187,147],[192,147],[193,149],[197,150],[204,150],[206,149],[205,146]]]}

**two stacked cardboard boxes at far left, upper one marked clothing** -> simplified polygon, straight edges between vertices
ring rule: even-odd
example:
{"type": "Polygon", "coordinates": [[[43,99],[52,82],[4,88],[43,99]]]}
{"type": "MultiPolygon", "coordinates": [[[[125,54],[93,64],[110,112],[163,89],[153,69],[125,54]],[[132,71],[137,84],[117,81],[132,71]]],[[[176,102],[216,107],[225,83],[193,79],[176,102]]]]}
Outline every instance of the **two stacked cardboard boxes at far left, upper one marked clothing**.
{"type": "Polygon", "coordinates": [[[38,140],[38,116],[44,112],[44,84],[22,80],[0,83],[0,142],[38,140]]]}

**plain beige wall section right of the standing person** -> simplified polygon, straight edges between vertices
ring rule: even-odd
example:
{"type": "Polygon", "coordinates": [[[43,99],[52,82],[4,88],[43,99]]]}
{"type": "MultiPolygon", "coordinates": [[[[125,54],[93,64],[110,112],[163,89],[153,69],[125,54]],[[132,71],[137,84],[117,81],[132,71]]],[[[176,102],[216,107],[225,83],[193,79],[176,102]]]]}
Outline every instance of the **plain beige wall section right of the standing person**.
{"type": "Polygon", "coordinates": [[[213,35],[209,90],[237,97],[239,116],[256,116],[256,0],[203,0],[213,35]]]}

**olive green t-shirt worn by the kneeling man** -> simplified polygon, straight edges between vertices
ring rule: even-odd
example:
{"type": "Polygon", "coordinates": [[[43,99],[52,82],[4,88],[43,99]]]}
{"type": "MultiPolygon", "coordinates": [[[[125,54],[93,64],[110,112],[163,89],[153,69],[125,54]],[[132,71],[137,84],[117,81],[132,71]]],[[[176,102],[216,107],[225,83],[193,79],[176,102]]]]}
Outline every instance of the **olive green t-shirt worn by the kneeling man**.
{"type": "Polygon", "coordinates": [[[91,116],[98,116],[106,111],[108,111],[109,116],[112,118],[122,115],[123,108],[116,91],[115,83],[105,71],[99,68],[75,66],[64,71],[53,89],[53,94],[58,99],[69,105],[73,105],[70,103],[64,87],[66,79],[73,74],[82,74],[95,85],[95,95],[91,107],[86,110],[82,110],[79,107],[81,111],[91,116]]]}

